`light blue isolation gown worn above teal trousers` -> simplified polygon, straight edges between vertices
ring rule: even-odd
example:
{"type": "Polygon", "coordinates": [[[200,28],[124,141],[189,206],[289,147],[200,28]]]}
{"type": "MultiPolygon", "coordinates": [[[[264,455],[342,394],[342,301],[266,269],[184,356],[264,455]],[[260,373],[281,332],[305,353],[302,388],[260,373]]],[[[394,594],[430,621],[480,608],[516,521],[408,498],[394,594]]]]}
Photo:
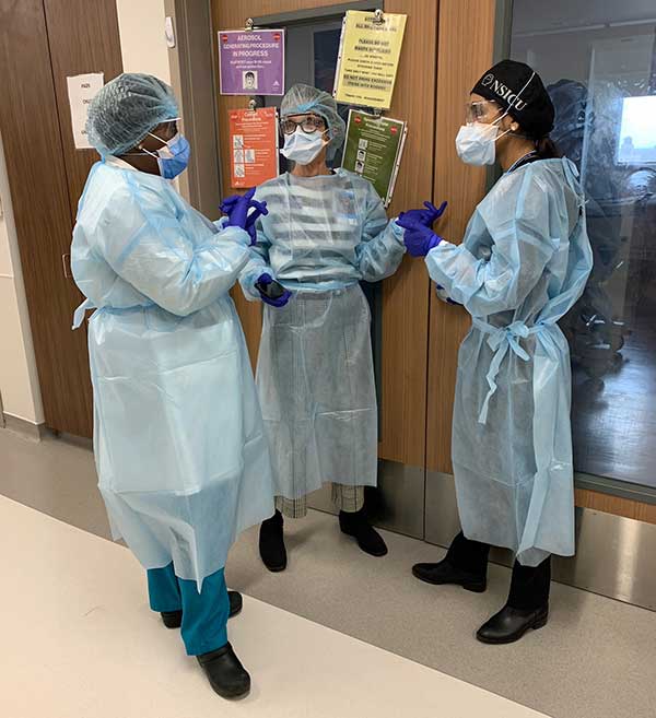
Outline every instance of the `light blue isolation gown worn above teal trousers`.
{"type": "MultiPolygon", "coordinates": [[[[180,578],[225,565],[273,513],[270,463],[229,290],[248,235],[220,231],[160,176],[91,170],[71,263],[89,322],[94,449],[114,538],[180,578]]],[[[79,310],[75,323],[82,319],[79,310]]]]}

